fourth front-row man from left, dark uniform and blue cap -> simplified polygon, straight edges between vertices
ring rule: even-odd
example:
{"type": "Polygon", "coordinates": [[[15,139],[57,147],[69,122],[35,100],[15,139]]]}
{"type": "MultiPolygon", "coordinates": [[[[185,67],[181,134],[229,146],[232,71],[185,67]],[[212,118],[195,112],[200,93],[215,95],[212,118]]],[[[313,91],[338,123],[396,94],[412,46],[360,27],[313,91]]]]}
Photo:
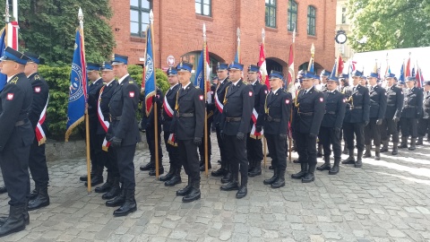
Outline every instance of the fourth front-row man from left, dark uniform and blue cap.
{"type": "Polygon", "coordinates": [[[228,162],[230,162],[231,179],[221,186],[222,191],[238,190],[236,198],[247,194],[248,160],[246,159],[246,137],[251,131],[250,121],[254,108],[254,91],[241,78],[244,65],[233,62],[228,65],[231,85],[224,98],[224,110],[221,119],[221,132],[225,143],[228,162]],[[238,176],[240,170],[240,186],[238,176]]]}

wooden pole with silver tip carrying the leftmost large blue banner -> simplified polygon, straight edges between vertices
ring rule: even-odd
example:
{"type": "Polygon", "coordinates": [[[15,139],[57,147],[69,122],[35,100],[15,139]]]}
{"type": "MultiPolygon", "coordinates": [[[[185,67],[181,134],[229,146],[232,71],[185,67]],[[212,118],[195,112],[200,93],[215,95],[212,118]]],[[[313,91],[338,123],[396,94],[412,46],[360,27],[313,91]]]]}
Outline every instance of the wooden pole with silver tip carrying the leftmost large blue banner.
{"type": "MultiPolygon", "coordinates": [[[[79,8],[78,12],[78,20],[79,20],[79,32],[81,33],[81,39],[82,39],[82,50],[83,50],[83,59],[85,59],[85,42],[84,42],[84,36],[83,36],[83,13],[82,8],[79,8]]],[[[86,66],[82,66],[83,68],[86,68],[86,66]]],[[[86,76],[82,76],[83,78],[87,78],[86,76]]],[[[88,99],[85,97],[85,136],[87,138],[86,148],[87,148],[87,188],[88,193],[91,193],[91,167],[90,167],[90,120],[88,117],[88,99]]]]}

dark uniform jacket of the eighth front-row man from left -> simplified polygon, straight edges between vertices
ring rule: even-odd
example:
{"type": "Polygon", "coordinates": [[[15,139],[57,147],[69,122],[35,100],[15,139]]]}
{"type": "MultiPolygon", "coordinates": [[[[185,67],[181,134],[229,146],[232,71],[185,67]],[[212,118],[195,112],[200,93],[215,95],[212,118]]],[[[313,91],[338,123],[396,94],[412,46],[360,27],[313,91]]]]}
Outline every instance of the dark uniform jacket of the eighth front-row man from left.
{"type": "Polygon", "coordinates": [[[362,85],[357,85],[357,88],[355,91],[353,91],[353,89],[354,89],[354,86],[348,86],[345,89],[345,98],[347,100],[347,111],[345,113],[345,118],[343,119],[343,122],[344,123],[368,122],[369,111],[370,111],[369,90],[362,85]],[[352,100],[350,99],[351,96],[352,96],[352,100]]]}

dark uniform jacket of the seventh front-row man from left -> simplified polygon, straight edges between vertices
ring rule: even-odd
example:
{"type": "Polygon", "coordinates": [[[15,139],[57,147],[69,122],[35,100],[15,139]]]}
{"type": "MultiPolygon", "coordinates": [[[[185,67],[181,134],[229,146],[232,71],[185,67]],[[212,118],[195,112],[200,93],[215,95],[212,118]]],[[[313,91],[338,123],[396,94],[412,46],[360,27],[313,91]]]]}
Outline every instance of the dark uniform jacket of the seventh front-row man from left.
{"type": "Polygon", "coordinates": [[[337,90],[324,92],[325,114],[322,127],[341,128],[345,117],[346,101],[345,95],[337,90]]]}

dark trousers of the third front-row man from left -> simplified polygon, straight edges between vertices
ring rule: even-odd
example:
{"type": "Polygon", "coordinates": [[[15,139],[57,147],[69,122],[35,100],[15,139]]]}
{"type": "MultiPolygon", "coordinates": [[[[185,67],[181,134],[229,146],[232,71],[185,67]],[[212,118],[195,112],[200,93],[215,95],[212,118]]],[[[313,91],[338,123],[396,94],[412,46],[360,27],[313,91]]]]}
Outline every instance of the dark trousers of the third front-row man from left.
{"type": "Polygon", "coordinates": [[[177,148],[188,179],[200,181],[199,154],[193,140],[177,141],[177,148]]]}

